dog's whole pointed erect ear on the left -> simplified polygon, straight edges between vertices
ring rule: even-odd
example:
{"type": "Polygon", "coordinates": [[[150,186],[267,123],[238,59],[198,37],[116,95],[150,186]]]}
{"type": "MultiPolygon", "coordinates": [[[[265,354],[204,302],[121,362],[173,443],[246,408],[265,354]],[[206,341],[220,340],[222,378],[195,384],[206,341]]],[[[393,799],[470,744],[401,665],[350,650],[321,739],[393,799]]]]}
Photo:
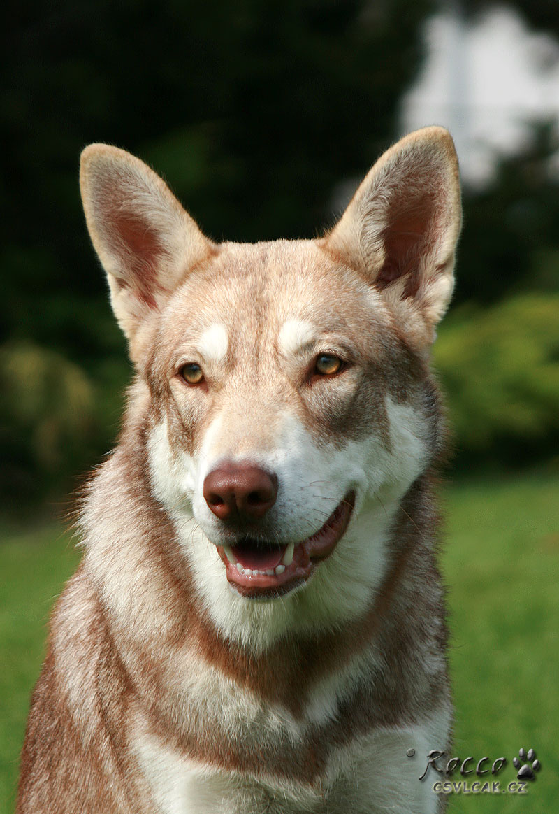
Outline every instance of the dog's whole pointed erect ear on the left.
{"type": "Polygon", "coordinates": [[[159,176],[124,150],[107,144],[86,147],[80,186],[112,309],[132,341],[140,323],[216,247],[159,176]]]}

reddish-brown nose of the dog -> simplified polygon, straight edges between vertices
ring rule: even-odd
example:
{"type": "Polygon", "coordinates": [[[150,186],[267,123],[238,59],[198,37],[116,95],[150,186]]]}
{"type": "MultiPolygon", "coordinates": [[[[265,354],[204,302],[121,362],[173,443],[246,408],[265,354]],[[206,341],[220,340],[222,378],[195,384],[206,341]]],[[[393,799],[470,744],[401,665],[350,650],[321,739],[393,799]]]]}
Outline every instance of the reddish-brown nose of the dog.
{"type": "Polygon", "coordinates": [[[256,520],[272,508],[277,476],[259,466],[225,463],[203,482],[203,497],[220,520],[256,520]]]}

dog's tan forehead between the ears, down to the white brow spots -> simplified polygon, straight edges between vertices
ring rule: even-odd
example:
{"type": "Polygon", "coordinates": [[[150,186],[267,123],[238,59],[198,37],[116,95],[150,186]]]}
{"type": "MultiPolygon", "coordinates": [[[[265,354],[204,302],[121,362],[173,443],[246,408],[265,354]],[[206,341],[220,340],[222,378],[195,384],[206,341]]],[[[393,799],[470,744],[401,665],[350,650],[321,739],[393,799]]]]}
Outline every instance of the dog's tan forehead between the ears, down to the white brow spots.
{"type": "Polygon", "coordinates": [[[325,333],[359,335],[386,313],[377,293],[315,241],[225,243],[174,295],[165,330],[212,357],[232,339],[291,354],[325,333]]]}

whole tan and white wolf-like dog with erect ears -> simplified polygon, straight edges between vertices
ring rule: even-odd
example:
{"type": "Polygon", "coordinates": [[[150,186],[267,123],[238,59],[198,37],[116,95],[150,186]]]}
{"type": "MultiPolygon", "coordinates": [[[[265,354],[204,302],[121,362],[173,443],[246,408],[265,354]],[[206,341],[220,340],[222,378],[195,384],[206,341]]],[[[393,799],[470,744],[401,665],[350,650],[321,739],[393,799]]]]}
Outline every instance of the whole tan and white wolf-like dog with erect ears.
{"type": "Polygon", "coordinates": [[[85,490],[18,814],[443,811],[419,777],[452,737],[429,366],[452,138],[397,142],[319,239],[213,243],[103,144],[81,195],[136,372],[85,490]]]}

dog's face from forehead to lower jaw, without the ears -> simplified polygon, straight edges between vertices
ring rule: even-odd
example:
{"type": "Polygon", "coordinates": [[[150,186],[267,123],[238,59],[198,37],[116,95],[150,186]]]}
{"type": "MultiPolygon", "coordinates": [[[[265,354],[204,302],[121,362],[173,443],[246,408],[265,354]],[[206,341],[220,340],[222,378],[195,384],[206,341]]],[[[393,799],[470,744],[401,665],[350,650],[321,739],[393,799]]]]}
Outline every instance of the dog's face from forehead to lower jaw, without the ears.
{"type": "Polygon", "coordinates": [[[194,513],[245,597],[304,584],[365,497],[398,495],[425,464],[410,353],[380,296],[316,243],[223,247],[153,348],[156,493],[194,513]]]}

